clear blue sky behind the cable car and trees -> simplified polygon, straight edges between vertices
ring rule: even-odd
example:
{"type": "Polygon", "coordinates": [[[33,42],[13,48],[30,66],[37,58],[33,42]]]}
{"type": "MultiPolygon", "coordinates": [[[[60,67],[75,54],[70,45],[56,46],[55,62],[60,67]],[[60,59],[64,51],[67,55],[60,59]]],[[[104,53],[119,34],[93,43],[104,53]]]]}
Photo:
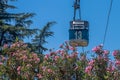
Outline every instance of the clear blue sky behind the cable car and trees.
{"type": "MultiPolygon", "coordinates": [[[[48,48],[58,49],[59,45],[69,39],[69,22],[73,18],[74,0],[18,0],[13,2],[16,12],[34,12],[32,28],[42,28],[49,21],[56,21],[51,31],[54,37],[48,39],[48,48]]],[[[85,50],[103,42],[110,0],[81,0],[82,20],[89,21],[89,45],[85,50]]],[[[105,49],[120,49],[120,0],[113,0],[105,49]]],[[[27,41],[27,40],[26,40],[27,41]]]]}

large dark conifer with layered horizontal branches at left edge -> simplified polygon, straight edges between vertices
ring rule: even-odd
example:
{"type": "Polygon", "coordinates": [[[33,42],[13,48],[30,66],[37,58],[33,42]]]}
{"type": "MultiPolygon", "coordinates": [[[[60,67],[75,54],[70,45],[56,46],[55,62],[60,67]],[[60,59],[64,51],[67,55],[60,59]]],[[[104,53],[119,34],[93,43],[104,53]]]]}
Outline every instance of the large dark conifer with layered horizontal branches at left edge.
{"type": "MultiPolygon", "coordinates": [[[[15,0],[10,0],[15,1],[15,0]]],[[[23,40],[36,32],[37,29],[29,29],[32,20],[29,18],[34,13],[11,13],[7,9],[16,7],[8,4],[8,0],[0,1],[0,46],[4,43],[14,42],[16,38],[23,40]]]]}

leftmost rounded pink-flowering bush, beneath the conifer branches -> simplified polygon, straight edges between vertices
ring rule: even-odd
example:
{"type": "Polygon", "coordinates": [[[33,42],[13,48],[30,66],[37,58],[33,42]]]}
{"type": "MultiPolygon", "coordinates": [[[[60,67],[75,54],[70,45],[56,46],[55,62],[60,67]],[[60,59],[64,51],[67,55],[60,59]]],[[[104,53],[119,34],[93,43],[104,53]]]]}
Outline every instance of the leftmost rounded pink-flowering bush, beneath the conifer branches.
{"type": "Polygon", "coordinates": [[[0,73],[3,77],[12,80],[34,79],[35,69],[40,63],[36,53],[30,52],[23,42],[16,42],[10,47],[5,47],[0,55],[0,73]]]}

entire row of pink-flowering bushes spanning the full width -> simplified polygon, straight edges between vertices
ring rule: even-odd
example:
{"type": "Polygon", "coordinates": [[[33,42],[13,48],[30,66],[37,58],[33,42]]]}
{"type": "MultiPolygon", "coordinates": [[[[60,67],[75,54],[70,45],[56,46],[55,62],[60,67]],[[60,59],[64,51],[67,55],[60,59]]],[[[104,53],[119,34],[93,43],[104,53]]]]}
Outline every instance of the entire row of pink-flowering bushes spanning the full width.
{"type": "Polygon", "coordinates": [[[57,51],[39,57],[23,42],[4,45],[0,55],[0,76],[11,80],[120,80],[120,51],[112,54],[103,45],[92,49],[86,58],[66,42],[57,51]]]}

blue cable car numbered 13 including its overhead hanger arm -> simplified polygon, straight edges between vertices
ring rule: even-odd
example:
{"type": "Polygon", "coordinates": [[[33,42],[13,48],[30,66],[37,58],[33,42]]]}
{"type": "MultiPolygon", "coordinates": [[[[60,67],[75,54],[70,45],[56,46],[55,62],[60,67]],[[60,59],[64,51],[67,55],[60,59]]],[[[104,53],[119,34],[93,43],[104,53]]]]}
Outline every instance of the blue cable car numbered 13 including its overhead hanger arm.
{"type": "Polygon", "coordinates": [[[73,16],[73,20],[70,22],[69,44],[73,47],[88,46],[89,23],[88,21],[81,20],[80,0],[75,0],[73,7],[74,7],[74,16],[73,16]],[[79,19],[76,19],[77,15],[79,15],[79,19]]]}

